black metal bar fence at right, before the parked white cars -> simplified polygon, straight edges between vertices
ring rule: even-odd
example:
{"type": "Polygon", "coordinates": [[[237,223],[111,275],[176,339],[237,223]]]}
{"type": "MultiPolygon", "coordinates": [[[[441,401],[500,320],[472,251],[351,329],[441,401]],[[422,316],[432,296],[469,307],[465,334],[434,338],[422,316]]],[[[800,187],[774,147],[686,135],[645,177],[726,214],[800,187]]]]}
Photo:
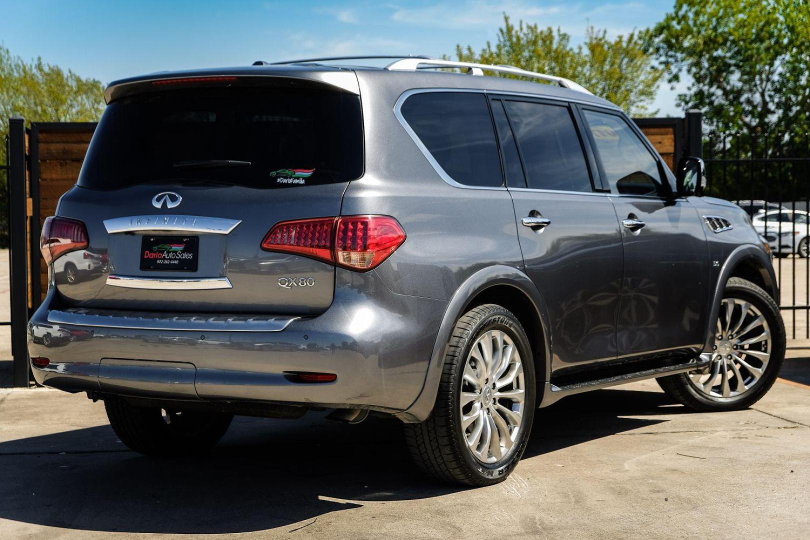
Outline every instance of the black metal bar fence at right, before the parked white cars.
{"type": "Polygon", "coordinates": [[[710,133],[703,154],[707,193],[747,208],[774,249],[788,337],[810,338],[810,138],[710,133]],[[774,215],[757,219],[761,207],[774,215]]]}

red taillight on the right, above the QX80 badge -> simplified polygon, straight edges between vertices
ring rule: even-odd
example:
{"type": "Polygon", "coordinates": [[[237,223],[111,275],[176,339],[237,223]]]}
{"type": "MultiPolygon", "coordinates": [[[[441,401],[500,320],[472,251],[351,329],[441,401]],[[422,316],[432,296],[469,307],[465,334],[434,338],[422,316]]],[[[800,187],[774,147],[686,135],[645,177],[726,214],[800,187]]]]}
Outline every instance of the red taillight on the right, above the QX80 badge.
{"type": "Polygon", "coordinates": [[[348,215],[276,223],[262,240],[262,249],[371,270],[404,241],[403,228],[390,216],[348,215]]]}

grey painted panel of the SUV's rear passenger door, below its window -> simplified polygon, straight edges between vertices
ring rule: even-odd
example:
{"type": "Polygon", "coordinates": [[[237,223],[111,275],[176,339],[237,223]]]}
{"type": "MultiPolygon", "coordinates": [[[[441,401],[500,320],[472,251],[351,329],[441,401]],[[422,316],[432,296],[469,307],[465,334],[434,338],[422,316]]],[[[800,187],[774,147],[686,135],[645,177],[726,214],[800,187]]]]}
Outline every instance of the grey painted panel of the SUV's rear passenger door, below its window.
{"type": "Polygon", "coordinates": [[[616,358],[622,245],[613,206],[595,194],[512,191],[520,219],[539,210],[542,232],[518,224],[528,276],[552,321],[552,368],[616,358]]]}

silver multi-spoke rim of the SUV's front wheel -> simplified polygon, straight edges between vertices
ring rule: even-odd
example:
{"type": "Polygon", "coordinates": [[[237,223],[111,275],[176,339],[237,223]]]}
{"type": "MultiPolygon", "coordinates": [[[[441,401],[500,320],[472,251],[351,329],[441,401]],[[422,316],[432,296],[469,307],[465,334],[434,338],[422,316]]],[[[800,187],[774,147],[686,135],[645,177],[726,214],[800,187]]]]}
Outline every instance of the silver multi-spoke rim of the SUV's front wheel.
{"type": "Polygon", "coordinates": [[[724,298],[720,305],[714,350],[701,355],[710,364],[689,373],[689,382],[710,398],[736,398],[765,374],[771,351],[770,326],[746,300],[724,298]]]}

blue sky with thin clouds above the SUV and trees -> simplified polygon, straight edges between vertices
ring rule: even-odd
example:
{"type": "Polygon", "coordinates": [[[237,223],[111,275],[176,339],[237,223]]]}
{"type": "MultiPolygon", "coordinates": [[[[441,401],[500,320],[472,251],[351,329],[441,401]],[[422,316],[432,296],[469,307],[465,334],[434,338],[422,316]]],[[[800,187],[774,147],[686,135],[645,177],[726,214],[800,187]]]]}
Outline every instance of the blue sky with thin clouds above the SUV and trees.
{"type": "MultiPolygon", "coordinates": [[[[648,27],[674,0],[356,0],[354,2],[106,2],[0,0],[0,43],[25,58],[109,83],[133,74],[343,54],[454,53],[495,40],[501,13],[610,35],[648,27]]],[[[665,84],[654,108],[680,115],[665,84]]]]}

